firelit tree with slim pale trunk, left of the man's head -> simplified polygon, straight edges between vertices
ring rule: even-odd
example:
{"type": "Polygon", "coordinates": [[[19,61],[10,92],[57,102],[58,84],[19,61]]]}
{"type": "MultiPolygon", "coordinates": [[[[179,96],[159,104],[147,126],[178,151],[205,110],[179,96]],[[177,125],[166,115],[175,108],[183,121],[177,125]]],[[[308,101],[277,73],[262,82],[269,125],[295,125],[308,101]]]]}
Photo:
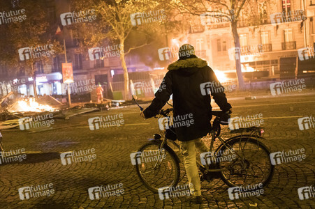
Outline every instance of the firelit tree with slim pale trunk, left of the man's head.
{"type": "Polygon", "coordinates": [[[125,57],[133,49],[138,49],[151,44],[154,34],[161,30],[163,21],[151,22],[150,24],[135,25],[131,22],[131,15],[144,13],[161,8],[159,3],[148,0],[111,0],[111,1],[72,1],[76,10],[94,9],[97,20],[92,24],[83,24],[75,29],[75,36],[81,40],[81,47],[99,46],[105,40],[119,43],[119,59],[124,69],[124,99],[129,98],[129,74],[125,57]],[[82,33],[86,31],[87,33],[82,33]],[[129,41],[129,37],[135,33],[138,40],[129,41]]]}

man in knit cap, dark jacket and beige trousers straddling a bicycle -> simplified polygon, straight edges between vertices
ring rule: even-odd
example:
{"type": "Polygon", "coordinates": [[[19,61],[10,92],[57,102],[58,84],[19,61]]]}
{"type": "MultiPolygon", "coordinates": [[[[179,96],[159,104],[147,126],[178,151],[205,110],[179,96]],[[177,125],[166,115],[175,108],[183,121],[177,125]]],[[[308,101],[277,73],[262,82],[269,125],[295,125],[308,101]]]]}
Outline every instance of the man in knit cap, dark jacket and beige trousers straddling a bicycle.
{"type": "MultiPolygon", "coordinates": [[[[143,118],[152,118],[173,94],[174,118],[189,116],[191,123],[177,125],[175,132],[180,141],[184,166],[189,184],[192,185],[189,201],[201,203],[200,177],[196,164],[196,148],[200,153],[209,151],[201,141],[211,129],[212,107],[210,93],[220,109],[227,115],[231,113],[231,106],[226,100],[224,87],[221,86],[207,61],[195,55],[191,45],[182,45],[179,51],[180,59],[168,66],[168,72],[161,83],[159,91],[155,93],[152,104],[141,112],[143,118]]],[[[174,119],[175,121],[175,119],[174,119]]],[[[180,124],[180,123],[179,123],[180,124]]]]}

